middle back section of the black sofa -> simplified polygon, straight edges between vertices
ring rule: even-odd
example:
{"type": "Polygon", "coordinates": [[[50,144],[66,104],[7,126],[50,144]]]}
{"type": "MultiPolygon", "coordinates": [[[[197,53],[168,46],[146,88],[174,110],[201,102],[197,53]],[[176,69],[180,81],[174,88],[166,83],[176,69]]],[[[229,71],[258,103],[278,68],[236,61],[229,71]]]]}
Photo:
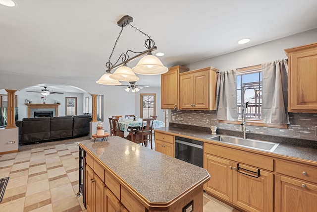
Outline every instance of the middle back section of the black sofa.
{"type": "Polygon", "coordinates": [[[70,138],[73,136],[73,117],[51,117],[50,128],[50,140],[70,138]]]}

